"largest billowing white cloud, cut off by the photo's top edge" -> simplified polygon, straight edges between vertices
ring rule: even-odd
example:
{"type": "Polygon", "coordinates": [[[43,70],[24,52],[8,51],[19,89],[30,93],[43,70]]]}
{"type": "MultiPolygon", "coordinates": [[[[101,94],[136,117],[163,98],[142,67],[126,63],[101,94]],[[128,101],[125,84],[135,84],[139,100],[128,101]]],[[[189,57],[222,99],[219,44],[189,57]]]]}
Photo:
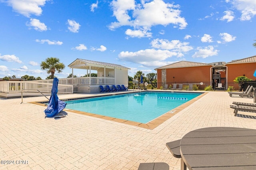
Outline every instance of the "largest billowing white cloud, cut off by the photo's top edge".
{"type": "Polygon", "coordinates": [[[140,4],[135,0],[113,0],[111,6],[117,21],[110,23],[109,29],[114,30],[124,25],[131,26],[136,32],[129,30],[127,35],[133,37],[137,34],[139,34],[138,37],[142,37],[142,33],[144,33],[143,37],[148,37],[145,33],[154,25],[173,24],[180,29],[188,25],[185,18],[180,16],[179,5],[165,3],[163,0],[152,0],[148,3],[142,0],[140,4]],[[138,30],[143,31],[138,32],[138,30]]]}

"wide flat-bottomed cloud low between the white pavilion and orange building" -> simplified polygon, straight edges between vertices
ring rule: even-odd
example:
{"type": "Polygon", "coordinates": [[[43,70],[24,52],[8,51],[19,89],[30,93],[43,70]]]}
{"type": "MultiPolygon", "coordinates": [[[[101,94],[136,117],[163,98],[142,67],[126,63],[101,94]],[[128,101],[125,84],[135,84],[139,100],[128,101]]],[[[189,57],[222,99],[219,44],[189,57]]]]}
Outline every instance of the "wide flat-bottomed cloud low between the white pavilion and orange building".
{"type": "Polygon", "coordinates": [[[136,52],[122,51],[118,58],[121,61],[142,64],[145,67],[156,68],[167,65],[172,62],[164,61],[172,56],[177,56],[178,53],[169,50],[145,49],[136,52]]]}

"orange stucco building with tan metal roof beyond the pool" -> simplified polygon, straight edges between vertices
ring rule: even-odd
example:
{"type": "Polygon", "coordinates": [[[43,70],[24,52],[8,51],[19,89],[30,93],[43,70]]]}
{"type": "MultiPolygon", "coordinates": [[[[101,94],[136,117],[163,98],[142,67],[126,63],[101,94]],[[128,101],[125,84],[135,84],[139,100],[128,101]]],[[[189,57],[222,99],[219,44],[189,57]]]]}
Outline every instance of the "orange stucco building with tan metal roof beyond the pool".
{"type": "Polygon", "coordinates": [[[156,68],[157,88],[164,84],[209,82],[215,86],[221,84],[227,89],[228,82],[233,82],[237,76],[246,76],[255,80],[256,56],[234,60],[228,63],[195,63],[180,61],[156,68]]]}

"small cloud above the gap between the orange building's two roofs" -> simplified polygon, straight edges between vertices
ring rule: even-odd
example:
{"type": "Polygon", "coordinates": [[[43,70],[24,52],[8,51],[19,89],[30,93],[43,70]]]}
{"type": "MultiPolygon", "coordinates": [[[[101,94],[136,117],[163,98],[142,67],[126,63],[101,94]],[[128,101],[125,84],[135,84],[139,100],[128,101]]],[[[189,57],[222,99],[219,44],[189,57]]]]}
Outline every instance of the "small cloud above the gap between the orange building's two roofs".
{"type": "Polygon", "coordinates": [[[209,45],[208,47],[197,47],[197,52],[192,55],[193,58],[195,57],[202,57],[203,59],[206,57],[218,55],[218,50],[214,49],[212,45],[209,45]]]}

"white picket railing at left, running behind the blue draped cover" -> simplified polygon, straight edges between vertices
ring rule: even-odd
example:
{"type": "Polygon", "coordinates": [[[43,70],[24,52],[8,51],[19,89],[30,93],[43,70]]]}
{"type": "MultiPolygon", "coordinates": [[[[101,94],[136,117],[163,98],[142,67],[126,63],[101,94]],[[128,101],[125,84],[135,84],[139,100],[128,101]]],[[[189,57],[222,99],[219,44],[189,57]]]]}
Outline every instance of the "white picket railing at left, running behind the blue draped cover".
{"type": "MultiPolygon", "coordinates": [[[[35,81],[1,81],[0,92],[17,93],[26,89],[36,89],[40,92],[51,93],[52,83],[35,81]]],[[[31,90],[30,90],[31,92],[31,90]]],[[[58,93],[73,93],[73,85],[58,84],[58,93]]]]}

